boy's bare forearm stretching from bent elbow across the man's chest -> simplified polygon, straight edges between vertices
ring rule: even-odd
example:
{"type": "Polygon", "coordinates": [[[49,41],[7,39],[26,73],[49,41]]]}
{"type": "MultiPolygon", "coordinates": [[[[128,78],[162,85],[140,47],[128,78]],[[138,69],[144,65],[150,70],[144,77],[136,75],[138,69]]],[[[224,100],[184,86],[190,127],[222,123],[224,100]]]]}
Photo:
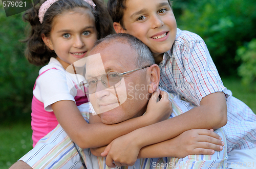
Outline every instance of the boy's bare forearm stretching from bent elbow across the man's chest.
{"type": "Polygon", "coordinates": [[[131,151],[129,150],[133,150],[132,153],[136,156],[142,147],[174,138],[184,131],[216,129],[224,126],[226,122],[225,96],[222,92],[213,93],[202,99],[200,106],[190,109],[179,116],[139,128],[126,134],[125,137],[117,138],[110,149],[111,158],[115,158],[116,154],[120,155],[120,153],[124,159],[131,157],[131,151]],[[217,125],[218,123],[220,124],[217,125]]]}

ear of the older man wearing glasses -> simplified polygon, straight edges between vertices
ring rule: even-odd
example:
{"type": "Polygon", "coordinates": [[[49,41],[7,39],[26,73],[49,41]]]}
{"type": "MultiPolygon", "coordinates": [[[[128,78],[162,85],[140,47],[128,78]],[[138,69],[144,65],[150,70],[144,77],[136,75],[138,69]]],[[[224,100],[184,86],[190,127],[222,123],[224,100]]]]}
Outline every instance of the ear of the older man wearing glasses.
{"type": "Polygon", "coordinates": [[[160,81],[160,68],[157,64],[148,68],[147,77],[149,82],[148,93],[153,93],[158,89],[160,81]]]}

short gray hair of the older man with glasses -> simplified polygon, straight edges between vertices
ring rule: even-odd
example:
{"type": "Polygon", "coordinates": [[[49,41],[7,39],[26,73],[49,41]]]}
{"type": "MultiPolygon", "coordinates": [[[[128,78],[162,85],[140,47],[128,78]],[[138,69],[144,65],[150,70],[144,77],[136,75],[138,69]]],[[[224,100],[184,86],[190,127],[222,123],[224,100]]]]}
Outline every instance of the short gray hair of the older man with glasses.
{"type": "Polygon", "coordinates": [[[143,66],[155,64],[155,59],[153,57],[153,54],[150,48],[148,48],[139,39],[129,34],[119,33],[119,34],[108,35],[105,38],[97,40],[93,48],[98,46],[101,42],[109,43],[111,41],[117,41],[117,40],[119,41],[124,40],[124,42],[126,41],[131,46],[131,48],[135,50],[135,52],[138,55],[136,64],[139,68],[143,66]]]}

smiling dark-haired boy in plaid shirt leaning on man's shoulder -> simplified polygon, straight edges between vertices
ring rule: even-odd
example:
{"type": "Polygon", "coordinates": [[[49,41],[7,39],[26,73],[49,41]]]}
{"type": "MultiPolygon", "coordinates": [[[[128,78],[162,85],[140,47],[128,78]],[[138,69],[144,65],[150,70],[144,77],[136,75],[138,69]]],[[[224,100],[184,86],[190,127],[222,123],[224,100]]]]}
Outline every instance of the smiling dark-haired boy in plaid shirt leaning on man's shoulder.
{"type": "MultiPolygon", "coordinates": [[[[108,10],[117,33],[137,37],[154,53],[155,61],[160,63],[160,86],[198,106],[173,118],[175,126],[169,124],[174,128],[170,134],[175,137],[192,128],[216,129],[227,122],[224,129],[228,155],[234,154],[235,149],[237,161],[255,162],[256,116],[223,86],[204,41],[196,34],[177,29],[171,3],[109,0],[108,10]],[[243,152],[251,159],[243,159],[243,152]]],[[[230,167],[234,161],[229,161],[230,167]]]]}

